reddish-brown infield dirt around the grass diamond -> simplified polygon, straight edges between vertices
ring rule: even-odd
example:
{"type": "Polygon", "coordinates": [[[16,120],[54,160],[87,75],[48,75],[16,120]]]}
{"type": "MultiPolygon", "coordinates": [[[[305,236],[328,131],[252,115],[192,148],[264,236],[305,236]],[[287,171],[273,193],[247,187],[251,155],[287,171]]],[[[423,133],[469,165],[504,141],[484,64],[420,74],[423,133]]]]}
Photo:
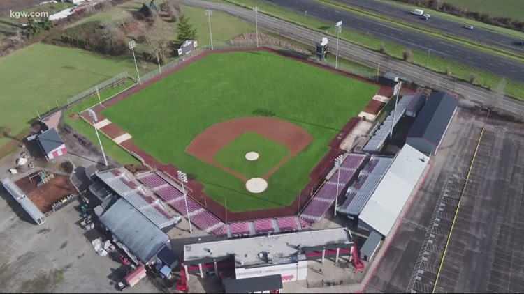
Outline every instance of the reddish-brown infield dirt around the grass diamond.
{"type": "Polygon", "coordinates": [[[234,139],[244,132],[256,132],[262,137],[289,148],[290,154],[262,177],[265,180],[268,180],[279,167],[282,167],[282,164],[300,153],[313,141],[313,137],[298,125],[276,118],[256,116],[237,118],[212,125],[198,134],[187,146],[186,151],[203,162],[231,173],[233,176],[240,178],[240,180],[247,180],[240,173],[232,171],[214,161],[214,157],[219,150],[231,144],[234,139]]]}

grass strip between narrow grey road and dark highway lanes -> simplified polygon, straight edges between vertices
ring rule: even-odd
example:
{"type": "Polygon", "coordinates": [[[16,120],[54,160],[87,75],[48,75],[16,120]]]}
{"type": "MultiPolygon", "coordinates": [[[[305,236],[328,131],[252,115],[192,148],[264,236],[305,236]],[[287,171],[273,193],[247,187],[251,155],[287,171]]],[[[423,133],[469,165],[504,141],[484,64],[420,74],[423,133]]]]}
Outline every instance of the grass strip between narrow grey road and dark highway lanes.
{"type": "MultiPolygon", "coordinates": [[[[307,17],[307,22],[305,22],[305,17],[303,13],[296,13],[293,10],[287,10],[280,8],[278,6],[272,5],[267,1],[263,0],[215,0],[224,3],[233,3],[245,8],[259,6],[261,13],[266,13],[275,17],[279,17],[282,20],[287,22],[292,22],[300,26],[305,26],[309,29],[315,31],[322,31],[330,36],[337,36],[335,32],[335,26],[333,23],[326,22],[323,20],[316,19],[314,17],[307,17]]],[[[347,40],[348,42],[354,43],[356,45],[361,45],[363,47],[372,49],[379,52],[381,47],[387,51],[394,59],[403,59],[403,54],[406,47],[397,45],[393,42],[387,42],[379,38],[374,38],[365,33],[359,33],[357,31],[352,31],[351,29],[344,29],[340,33],[340,38],[342,40],[347,40]]],[[[419,65],[422,68],[428,68],[434,72],[447,73],[453,72],[453,77],[456,77],[458,80],[465,82],[470,81],[470,76],[475,74],[477,79],[474,82],[474,85],[481,86],[483,88],[494,89],[500,83],[502,77],[499,75],[494,75],[490,72],[485,72],[476,68],[471,68],[460,63],[450,62],[447,59],[444,59],[440,56],[430,55],[428,59],[428,52],[419,51],[412,49],[413,56],[410,59],[409,63],[419,65]]],[[[381,65],[381,68],[384,69],[384,64],[381,65]]],[[[512,98],[518,100],[524,100],[524,84],[509,80],[506,86],[506,94],[512,98]]]]}

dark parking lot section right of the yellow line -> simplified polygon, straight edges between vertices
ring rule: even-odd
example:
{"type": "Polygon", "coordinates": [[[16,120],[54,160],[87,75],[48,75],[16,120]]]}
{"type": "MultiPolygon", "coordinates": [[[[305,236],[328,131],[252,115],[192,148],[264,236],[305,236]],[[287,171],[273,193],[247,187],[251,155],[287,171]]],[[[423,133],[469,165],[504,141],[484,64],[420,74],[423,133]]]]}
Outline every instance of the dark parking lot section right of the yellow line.
{"type": "Polygon", "coordinates": [[[439,293],[524,291],[524,128],[490,119],[437,281],[439,293]]]}

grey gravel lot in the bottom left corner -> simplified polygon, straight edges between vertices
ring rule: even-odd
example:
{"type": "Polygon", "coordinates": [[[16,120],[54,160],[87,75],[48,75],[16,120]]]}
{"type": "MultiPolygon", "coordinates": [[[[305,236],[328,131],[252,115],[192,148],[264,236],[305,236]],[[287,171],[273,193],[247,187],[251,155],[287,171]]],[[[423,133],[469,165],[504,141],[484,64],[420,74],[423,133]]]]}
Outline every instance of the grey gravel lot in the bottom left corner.
{"type": "MultiPolygon", "coordinates": [[[[0,188],[0,293],[115,293],[119,263],[94,252],[73,204],[36,226],[0,188]]],[[[159,293],[150,281],[130,293],[159,293]]]]}

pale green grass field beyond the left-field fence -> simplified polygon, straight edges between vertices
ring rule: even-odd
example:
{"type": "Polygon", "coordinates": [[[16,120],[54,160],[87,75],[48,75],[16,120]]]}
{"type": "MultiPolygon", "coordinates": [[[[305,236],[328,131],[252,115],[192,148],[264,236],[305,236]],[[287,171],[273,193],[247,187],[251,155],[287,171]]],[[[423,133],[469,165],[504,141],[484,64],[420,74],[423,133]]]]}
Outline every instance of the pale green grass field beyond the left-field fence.
{"type": "MultiPolygon", "coordinates": [[[[48,107],[65,105],[68,98],[125,71],[133,75],[133,59],[40,43],[17,50],[0,59],[0,126],[17,134],[36,111],[45,114],[48,107]]],[[[0,146],[6,141],[0,139],[0,146]]]]}

